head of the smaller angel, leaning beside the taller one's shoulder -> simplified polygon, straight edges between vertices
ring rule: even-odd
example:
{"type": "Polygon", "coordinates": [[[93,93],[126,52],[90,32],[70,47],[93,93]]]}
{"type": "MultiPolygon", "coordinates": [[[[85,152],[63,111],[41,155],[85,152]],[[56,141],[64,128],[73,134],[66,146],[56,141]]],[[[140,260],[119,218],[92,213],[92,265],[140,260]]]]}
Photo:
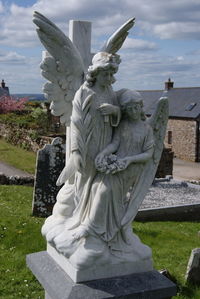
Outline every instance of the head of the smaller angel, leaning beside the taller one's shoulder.
{"type": "Polygon", "coordinates": [[[131,120],[145,120],[143,101],[139,92],[126,89],[119,98],[122,113],[131,120]]]}

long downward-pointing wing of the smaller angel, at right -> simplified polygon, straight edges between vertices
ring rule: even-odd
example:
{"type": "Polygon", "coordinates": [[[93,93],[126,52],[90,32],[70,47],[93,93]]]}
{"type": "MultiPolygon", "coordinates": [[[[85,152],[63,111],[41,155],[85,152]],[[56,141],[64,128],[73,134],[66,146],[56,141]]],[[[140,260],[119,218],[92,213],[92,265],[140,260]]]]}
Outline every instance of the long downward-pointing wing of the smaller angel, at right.
{"type": "Polygon", "coordinates": [[[161,97],[157,103],[155,112],[148,120],[153,129],[154,153],[153,157],[145,164],[141,174],[138,175],[137,182],[133,186],[127,212],[122,219],[123,226],[126,226],[133,221],[149,187],[154,180],[163,150],[163,142],[168,121],[168,110],[169,107],[167,97],[161,97]]]}

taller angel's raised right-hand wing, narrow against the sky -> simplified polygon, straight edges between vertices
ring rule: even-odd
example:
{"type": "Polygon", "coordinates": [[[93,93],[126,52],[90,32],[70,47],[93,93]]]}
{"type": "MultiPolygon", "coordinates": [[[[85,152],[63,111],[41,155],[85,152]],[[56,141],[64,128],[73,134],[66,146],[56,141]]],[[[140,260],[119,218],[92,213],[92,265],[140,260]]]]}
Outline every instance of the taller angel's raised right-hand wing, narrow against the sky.
{"type": "Polygon", "coordinates": [[[135,24],[135,18],[129,19],[126,23],[124,23],[119,29],[117,29],[113,35],[106,41],[103,48],[101,49],[102,52],[107,52],[111,54],[115,54],[123,45],[129,29],[133,27],[135,24]]]}

